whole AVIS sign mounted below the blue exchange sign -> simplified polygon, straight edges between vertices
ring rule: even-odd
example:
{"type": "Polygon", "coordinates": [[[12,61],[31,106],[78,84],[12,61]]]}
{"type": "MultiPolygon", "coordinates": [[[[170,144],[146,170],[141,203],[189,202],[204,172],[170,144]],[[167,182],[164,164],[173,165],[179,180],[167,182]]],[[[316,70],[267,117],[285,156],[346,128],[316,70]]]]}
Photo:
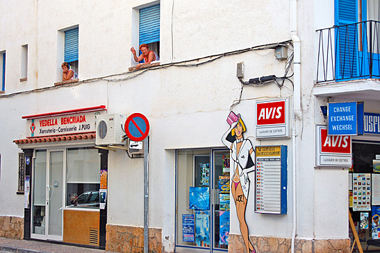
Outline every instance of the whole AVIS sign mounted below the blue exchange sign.
{"type": "Polygon", "coordinates": [[[317,167],[351,167],[352,146],[348,135],[327,135],[326,125],[316,127],[316,159],[317,167]]]}

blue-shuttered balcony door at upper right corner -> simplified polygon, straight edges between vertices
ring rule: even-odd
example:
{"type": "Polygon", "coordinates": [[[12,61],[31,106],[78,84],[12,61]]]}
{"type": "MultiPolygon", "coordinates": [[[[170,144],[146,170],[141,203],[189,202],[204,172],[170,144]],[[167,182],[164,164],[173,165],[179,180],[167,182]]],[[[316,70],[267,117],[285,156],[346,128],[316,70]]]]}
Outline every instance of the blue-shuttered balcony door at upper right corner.
{"type": "Polygon", "coordinates": [[[377,1],[335,0],[336,80],[380,77],[379,17],[377,1]]]}

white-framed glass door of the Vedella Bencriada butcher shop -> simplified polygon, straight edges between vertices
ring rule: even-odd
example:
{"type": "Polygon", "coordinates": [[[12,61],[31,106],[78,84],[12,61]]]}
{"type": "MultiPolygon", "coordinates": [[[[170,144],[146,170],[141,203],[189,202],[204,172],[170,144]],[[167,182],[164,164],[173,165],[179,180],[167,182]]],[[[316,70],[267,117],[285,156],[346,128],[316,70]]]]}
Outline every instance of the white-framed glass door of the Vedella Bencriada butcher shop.
{"type": "Polygon", "coordinates": [[[65,150],[36,150],[31,238],[63,241],[65,150]]]}

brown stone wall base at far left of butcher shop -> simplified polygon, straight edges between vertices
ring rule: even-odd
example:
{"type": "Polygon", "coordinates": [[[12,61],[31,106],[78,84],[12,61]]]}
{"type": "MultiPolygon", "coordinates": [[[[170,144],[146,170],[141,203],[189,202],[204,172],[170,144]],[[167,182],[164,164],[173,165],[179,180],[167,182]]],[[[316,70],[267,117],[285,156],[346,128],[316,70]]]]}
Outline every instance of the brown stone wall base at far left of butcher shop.
{"type": "Polygon", "coordinates": [[[0,216],[0,237],[22,240],[24,238],[24,218],[0,216]]]}

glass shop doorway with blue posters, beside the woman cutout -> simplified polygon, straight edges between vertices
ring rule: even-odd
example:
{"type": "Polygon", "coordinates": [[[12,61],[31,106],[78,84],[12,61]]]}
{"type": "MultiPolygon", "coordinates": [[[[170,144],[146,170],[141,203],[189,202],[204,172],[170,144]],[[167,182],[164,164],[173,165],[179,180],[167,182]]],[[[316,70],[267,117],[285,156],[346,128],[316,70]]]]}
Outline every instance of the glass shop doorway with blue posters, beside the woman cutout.
{"type": "Polygon", "coordinates": [[[228,252],[228,149],[177,150],[176,252],[228,252]]]}

